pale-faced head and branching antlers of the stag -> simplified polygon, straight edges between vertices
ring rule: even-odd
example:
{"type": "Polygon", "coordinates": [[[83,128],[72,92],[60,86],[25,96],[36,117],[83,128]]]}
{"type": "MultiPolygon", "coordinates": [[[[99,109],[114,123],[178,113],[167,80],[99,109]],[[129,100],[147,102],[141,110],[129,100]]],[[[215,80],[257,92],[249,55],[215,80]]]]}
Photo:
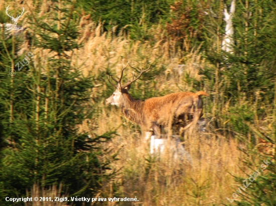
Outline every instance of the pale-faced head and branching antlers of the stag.
{"type": "Polygon", "coordinates": [[[116,80],[116,79],[114,79],[114,78],[111,76],[111,78],[112,78],[114,81],[117,82],[117,85],[115,85],[114,83],[112,83],[112,82],[110,81],[110,79],[109,79],[109,76],[107,76],[109,83],[111,83],[111,84],[116,88],[116,90],[113,92],[113,94],[112,94],[109,98],[107,98],[107,99],[105,100],[105,103],[106,103],[107,105],[108,105],[108,104],[112,104],[112,105],[117,105],[117,106],[119,106],[119,105],[120,105],[120,102],[121,102],[121,98],[122,98],[122,93],[128,93],[128,90],[130,89],[130,84],[131,84],[132,82],[136,81],[137,79],[139,79],[139,78],[142,76],[142,74],[143,74],[145,71],[148,71],[148,70],[150,69],[150,67],[151,67],[151,65],[150,65],[149,68],[147,68],[146,70],[143,70],[143,66],[142,66],[142,64],[141,64],[141,68],[142,68],[142,69],[141,69],[141,72],[140,72],[139,76],[137,76],[136,78],[134,78],[134,73],[133,73],[132,80],[129,80],[129,81],[127,81],[125,84],[122,85],[122,84],[121,84],[122,75],[123,75],[123,71],[124,71],[124,69],[127,67],[127,65],[128,65],[128,62],[127,62],[127,64],[126,64],[125,67],[123,67],[123,64],[122,64],[121,76],[120,76],[119,80],[116,80]]]}

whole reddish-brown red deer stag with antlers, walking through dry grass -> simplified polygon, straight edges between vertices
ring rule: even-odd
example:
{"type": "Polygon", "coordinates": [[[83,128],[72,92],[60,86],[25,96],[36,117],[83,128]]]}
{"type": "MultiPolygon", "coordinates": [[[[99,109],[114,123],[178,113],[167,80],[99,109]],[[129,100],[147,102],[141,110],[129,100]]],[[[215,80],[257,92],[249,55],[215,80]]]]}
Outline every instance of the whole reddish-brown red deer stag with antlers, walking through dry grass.
{"type": "Polygon", "coordinates": [[[204,91],[171,93],[166,96],[148,98],[145,101],[133,99],[128,93],[130,84],[139,79],[145,71],[148,71],[151,65],[143,70],[141,64],[142,70],[139,76],[134,78],[133,74],[132,80],[122,85],[121,79],[127,65],[125,67],[122,65],[119,80],[111,76],[117,82],[117,85],[112,83],[108,76],[108,81],[116,87],[116,90],[105,100],[105,103],[119,106],[127,119],[139,124],[142,130],[147,132],[146,138],[151,136],[151,129],[153,129],[154,134],[159,136],[161,125],[166,127],[172,124],[175,119],[185,121],[186,116],[193,116],[193,120],[182,128],[184,131],[192,124],[195,125],[203,115],[201,95],[208,95],[204,91]]]}

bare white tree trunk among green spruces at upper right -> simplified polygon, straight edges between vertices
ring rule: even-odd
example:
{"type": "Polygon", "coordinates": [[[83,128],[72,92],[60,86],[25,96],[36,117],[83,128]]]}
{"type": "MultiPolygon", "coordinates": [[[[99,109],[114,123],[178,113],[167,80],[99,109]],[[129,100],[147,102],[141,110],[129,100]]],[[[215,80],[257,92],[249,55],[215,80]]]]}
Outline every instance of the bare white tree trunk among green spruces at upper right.
{"type": "Polygon", "coordinates": [[[236,6],[236,2],[235,0],[232,0],[231,6],[230,6],[230,12],[228,13],[226,6],[223,12],[225,16],[224,20],[226,21],[226,26],[225,26],[225,35],[222,41],[221,49],[230,53],[233,52],[232,45],[234,44],[234,40],[233,40],[234,27],[232,23],[232,17],[235,12],[235,6],[236,6]]]}

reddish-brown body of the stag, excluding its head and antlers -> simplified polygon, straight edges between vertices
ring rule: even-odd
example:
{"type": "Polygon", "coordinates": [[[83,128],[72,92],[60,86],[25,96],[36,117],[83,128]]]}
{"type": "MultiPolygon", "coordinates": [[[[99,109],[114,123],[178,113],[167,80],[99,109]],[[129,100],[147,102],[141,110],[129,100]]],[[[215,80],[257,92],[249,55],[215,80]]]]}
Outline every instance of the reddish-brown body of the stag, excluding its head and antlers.
{"type": "Polygon", "coordinates": [[[178,121],[186,123],[187,117],[192,121],[183,130],[195,124],[203,115],[201,95],[208,95],[204,91],[177,92],[142,101],[129,99],[131,96],[128,93],[123,94],[125,96],[121,110],[125,117],[140,124],[143,130],[149,131],[152,128],[156,135],[160,135],[161,126],[167,127],[178,121]]]}

